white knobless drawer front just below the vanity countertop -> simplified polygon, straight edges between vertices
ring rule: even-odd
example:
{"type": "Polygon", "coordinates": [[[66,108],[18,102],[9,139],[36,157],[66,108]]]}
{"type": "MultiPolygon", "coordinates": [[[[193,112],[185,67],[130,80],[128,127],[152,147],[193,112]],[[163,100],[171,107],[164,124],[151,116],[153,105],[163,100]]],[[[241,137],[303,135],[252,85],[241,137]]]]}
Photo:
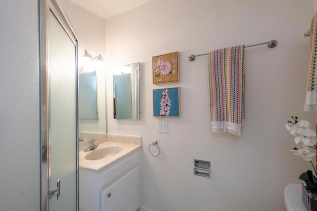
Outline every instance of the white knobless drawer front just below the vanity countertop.
{"type": "Polygon", "coordinates": [[[129,170],[136,167],[139,163],[139,150],[133,152],[133,154],[129,155],[122,160],[115,162],[113,165],[105,169],[100,174],[99,187],[102,188],[109,183],[113,182],[129,170]]]}

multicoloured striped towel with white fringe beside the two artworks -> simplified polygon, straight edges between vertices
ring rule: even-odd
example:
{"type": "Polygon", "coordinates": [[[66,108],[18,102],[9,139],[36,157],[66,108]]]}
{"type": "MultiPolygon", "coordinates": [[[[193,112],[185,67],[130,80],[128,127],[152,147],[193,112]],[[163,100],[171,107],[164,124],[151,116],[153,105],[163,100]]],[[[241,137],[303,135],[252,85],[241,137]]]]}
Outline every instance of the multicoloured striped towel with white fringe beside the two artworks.
{"type": "Polygon", "coordinates": [[[211,131],[240,135],[244,127],[244,45],[209,53],[211,131]]]}

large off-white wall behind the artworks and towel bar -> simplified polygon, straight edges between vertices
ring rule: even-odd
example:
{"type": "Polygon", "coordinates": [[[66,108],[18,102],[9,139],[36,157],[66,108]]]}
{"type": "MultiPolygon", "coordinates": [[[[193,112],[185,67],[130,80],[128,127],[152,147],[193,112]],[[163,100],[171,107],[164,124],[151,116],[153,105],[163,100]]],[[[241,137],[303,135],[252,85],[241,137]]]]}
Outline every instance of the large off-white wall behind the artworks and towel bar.
{"type": "Polygon", "coordinates": [[[107,132],[143,138],[142,206],[156,211],[283,211],[284,187],[309,163],[292,155],[285,129],[303,112],[313,0],[154,0],[106,20],[107,132]],[[274,5],[274,6],[272,6],[274,5]],[[276,39],[246,49],[246,127],[241,137],[212,133],[206,56],[190,54],[276,39]],[[152,56],[180,52],[180,83],[152,84],[152,56]],[[112,117],[111,70],[141,62],[140,121],[112,117]],[[157,133],[152,90],[181,87],[181,118],[157,133]],[[148,145],[159,141],[161,155],[148,145]],[[193,159],[211,161],[211,178],[193,175],[193,159]]]}

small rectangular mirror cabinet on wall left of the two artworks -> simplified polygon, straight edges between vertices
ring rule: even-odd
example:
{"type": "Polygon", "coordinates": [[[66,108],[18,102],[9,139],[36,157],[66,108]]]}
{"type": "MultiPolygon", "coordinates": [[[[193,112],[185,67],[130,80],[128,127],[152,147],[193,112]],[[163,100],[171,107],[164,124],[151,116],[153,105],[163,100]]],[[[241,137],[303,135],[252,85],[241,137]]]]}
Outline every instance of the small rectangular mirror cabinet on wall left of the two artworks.
{"type": "Polygon", "coordinates": [[[113,118],[140,119],[140,63],[113,69],[113,118]]]}

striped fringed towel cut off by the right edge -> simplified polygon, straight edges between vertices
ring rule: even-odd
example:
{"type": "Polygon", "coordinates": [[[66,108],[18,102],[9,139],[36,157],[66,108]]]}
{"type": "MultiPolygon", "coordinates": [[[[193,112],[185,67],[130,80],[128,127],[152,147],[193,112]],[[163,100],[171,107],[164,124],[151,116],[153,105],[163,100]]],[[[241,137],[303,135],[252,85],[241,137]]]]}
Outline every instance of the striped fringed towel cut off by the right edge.
{"type": "Polygon", "coordinates": [[[314,15],[311,27],[311,65],[308,73],[306,104],[304,111],[317,111],[317,80],[316,80],[316,54],[317,54],[317,13],[314,15]]]}

